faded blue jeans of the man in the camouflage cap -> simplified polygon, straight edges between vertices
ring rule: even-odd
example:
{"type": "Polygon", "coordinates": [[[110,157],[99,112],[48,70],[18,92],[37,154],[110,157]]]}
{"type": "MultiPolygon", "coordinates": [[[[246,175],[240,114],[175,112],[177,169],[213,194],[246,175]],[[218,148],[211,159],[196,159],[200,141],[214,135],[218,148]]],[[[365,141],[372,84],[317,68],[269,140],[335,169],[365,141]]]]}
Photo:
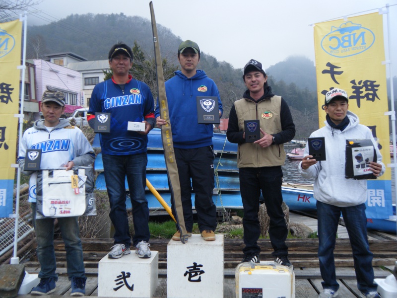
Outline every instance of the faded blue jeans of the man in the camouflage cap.
{"type": "MultiPolygon", "coordinates": [[[[33,212],[33,226],[36,230],[36,254],[40,262],[39,278],[54,278],[57,262],[54,251],[54,218],[36,220],[36,203],[31,203],[33,212]]],[[[78,217],[58,218],[62,238],[65,242],[67,275],[84,278],[83,249],[79,237],[78,217]]]]}

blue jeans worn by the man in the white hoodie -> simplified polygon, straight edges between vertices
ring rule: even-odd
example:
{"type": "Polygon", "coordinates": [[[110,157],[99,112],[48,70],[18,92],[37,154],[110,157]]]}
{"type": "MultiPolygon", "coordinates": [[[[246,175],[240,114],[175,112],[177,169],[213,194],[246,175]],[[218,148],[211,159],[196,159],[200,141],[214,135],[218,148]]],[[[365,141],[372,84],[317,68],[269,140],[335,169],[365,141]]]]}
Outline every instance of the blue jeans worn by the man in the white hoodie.
{"type": "Polygon", "coordinates": [[[319,260],[324,289],[339,289],[336,282],[333,249],[337,226],[342,213],[350,245],[353,251],[354,269],[356,271],[357,288],[363,293],[376,291],[374,270],[372,268],[372,252],[367,240],[367,217],[365,204],[350,207],[337,207],[317,201],[319,260]]]}

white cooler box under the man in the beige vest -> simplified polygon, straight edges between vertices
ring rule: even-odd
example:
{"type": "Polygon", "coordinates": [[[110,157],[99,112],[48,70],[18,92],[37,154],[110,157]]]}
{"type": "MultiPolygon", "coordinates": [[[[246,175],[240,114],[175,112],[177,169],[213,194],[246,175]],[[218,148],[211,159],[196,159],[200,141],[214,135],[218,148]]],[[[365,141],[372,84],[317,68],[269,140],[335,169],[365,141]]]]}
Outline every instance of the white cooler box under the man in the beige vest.
{"type": "Polygon", "coordinates": [[[275,262],[242,263],[236,267],[236,298],[295,298],[293,267],[275,262]]]}

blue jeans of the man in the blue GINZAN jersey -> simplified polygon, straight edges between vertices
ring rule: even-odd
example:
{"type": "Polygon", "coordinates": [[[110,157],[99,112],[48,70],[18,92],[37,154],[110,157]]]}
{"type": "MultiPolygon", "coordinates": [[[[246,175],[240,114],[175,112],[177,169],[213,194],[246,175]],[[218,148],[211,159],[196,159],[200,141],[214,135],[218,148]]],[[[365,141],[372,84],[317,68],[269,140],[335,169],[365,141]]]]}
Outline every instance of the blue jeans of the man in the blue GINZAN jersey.
{"type": "Polygon", "coordinates": [[[147,154],[109,155],[102,153],[102,160],[110,203],[109,217],[115,227],[114,243],[131,246],[126,208],[126,175],[135,231],[132,243],[136,245],[142,240],[149,241],[149,208],[145,197],[147,154]]]}

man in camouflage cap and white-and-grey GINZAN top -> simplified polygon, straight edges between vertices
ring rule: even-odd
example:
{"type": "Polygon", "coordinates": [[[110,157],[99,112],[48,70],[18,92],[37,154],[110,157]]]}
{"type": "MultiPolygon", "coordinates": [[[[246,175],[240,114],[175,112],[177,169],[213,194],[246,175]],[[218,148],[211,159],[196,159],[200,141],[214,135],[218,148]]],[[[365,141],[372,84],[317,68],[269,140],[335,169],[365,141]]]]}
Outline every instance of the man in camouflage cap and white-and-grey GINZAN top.
{"type": "MultiPolygon", "coordinates": [[[[40,169],[55,169],[73,166],[88,166],[93,163],[95,154],[80,129],[70,126],[61,115],[65,111],[65,95],[59,90],[44,91],[41,101],[44,119],[37,120],[34,126],[23,134],[18,154],[18,164],[25,164],[27,149],[36,149],[40,144],[42,157],[40,169]],[[55,141],[61,140],[65,148],[60,150],[55,141]]],[[[40,262],[40,284],[32,289],[32,295],[49,295],[55,291],[58,275],[54,252],[54,218],[36,220],[36,183],[37,172],[25,171],[30,175],[29,202],[32,207],[33,225],[36,230],[37,258],[40,262]]],[[[78,217],[58,218],[62,238],[65,242],[67,275],[71,281],[71,296],[85,295],[85,273],[83,250],[79,237],[78,217]]]]}

